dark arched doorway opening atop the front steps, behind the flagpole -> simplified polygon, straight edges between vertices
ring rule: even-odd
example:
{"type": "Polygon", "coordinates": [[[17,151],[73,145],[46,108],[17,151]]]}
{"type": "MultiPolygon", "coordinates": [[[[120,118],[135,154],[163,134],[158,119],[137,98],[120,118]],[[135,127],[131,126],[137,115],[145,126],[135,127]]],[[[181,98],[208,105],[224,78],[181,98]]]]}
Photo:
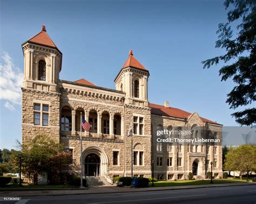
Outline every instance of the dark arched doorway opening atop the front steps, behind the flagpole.
{"type": "Polygon", "coordinates": [[[100,158],[97,154],[91,153],[85,157],[84,169],[85,175],[99,175],[100,158]]]}

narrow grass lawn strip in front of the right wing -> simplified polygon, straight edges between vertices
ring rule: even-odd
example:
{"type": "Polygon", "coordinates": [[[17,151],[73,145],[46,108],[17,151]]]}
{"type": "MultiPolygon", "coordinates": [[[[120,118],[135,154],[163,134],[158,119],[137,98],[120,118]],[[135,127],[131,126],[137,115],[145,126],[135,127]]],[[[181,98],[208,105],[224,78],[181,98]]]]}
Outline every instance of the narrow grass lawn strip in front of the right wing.
{"type": "MultiPolygon", "coordinates": [[[[235,180],[238,181],[238,180],[235,180]]],[[[229,184],[233,183],[233,180],[214,180],[213,184],[229,184]]],[[[239,181],[238,181],[239,182],[239,181]]],[[[243,181],[241,181],[243,182],[243,181]]],[[[189,186],[189,185],[205,185],[210,184],[210,180],[180,180],[180,181],[157,181],[154,182],[155,187],[166,187],[166,186],[189,186]]],[[[152,182],[149,183],[149,186],[152,186],[152,182]]]]}

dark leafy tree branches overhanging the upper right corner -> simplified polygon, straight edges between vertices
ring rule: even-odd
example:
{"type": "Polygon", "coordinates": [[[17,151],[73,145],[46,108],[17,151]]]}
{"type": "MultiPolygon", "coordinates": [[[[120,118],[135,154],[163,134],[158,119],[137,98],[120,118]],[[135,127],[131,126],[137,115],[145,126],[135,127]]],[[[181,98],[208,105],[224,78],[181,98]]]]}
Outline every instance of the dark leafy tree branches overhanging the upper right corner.
{"type": "MultiPolygon", "coordinates": [[[[220,23],[219,34],[215,47],[225,48],[226,54],[203,61],[204,68],[209,68],[220,61],[224,63],[235,60],[231,65],[224,65],[219,70],[221,81],[232,78],[237,84],[227,94],[226,102],[231,109],[252,104],[255,99],[256,87],[256,4],[255,0],[226,0],[225,8],[233,5],[228,11],[228,23],[220,23]],[[234,37],[231,24],[240,21],[237,26],[238,35],[234,37]]],[[[256,108],[245,108],[232,114],[241,125],[253,125],[256,121],[256,108]]]]}

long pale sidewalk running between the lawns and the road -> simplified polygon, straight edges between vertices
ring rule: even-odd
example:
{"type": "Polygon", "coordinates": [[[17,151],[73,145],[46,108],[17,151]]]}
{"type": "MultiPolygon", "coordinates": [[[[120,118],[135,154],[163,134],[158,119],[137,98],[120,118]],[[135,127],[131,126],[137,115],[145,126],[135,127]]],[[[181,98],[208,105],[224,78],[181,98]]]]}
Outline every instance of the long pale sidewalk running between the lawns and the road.
{"type": "Polygon", "coordinates": [[[191,186],[170,186],[170,187],[148,187],[148,188],[128,188],[115,186],[91,186],[88,189],[71,188],[70,189],[26,189],[22,191],[10,191],[11,189],[0,189],[0,195],[3,196],[44,196],[44,195],[79,195],[79,194],[98,194],[98,193],[131,193],[131,192],[146,192],[146,191],[167,191],[177,189],[191,188],[212,188],[212,187],[227,187],[227,186],[248,186],[256,185],[256,183],[233,183],[233,184],[208,184],[208,185],[191,185],[191,186]]]}

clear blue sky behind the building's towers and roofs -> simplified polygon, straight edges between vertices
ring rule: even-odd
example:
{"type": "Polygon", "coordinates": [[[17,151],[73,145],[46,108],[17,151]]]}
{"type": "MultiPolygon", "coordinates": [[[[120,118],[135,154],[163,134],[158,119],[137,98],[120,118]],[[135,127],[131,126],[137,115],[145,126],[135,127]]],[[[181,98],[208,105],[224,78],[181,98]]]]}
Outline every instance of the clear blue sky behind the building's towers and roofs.
{"type": "MultiPolygon", "coordinates": [[[[85,78],[114,89],[113,80],[132,49],[150,72],[151,103],[168,100],[171,107],[238,125],[225,103],[233,82],[220,81],[220,65],[203,69],[201,64],[225,53],[215,48],[217,26],[226,22],[224,1],[0,2],[1,68],[8,67],[7,58],[19,74],[12,76],[12,89],[19,89],[15,80],[23,72],[21,44],[45,24],[63,53],[60,79],[85,78]]],[[[2,95],[0,101],[0,148],[14,148],[15,139],[21,140],[21,100],[2,95]]]]}

